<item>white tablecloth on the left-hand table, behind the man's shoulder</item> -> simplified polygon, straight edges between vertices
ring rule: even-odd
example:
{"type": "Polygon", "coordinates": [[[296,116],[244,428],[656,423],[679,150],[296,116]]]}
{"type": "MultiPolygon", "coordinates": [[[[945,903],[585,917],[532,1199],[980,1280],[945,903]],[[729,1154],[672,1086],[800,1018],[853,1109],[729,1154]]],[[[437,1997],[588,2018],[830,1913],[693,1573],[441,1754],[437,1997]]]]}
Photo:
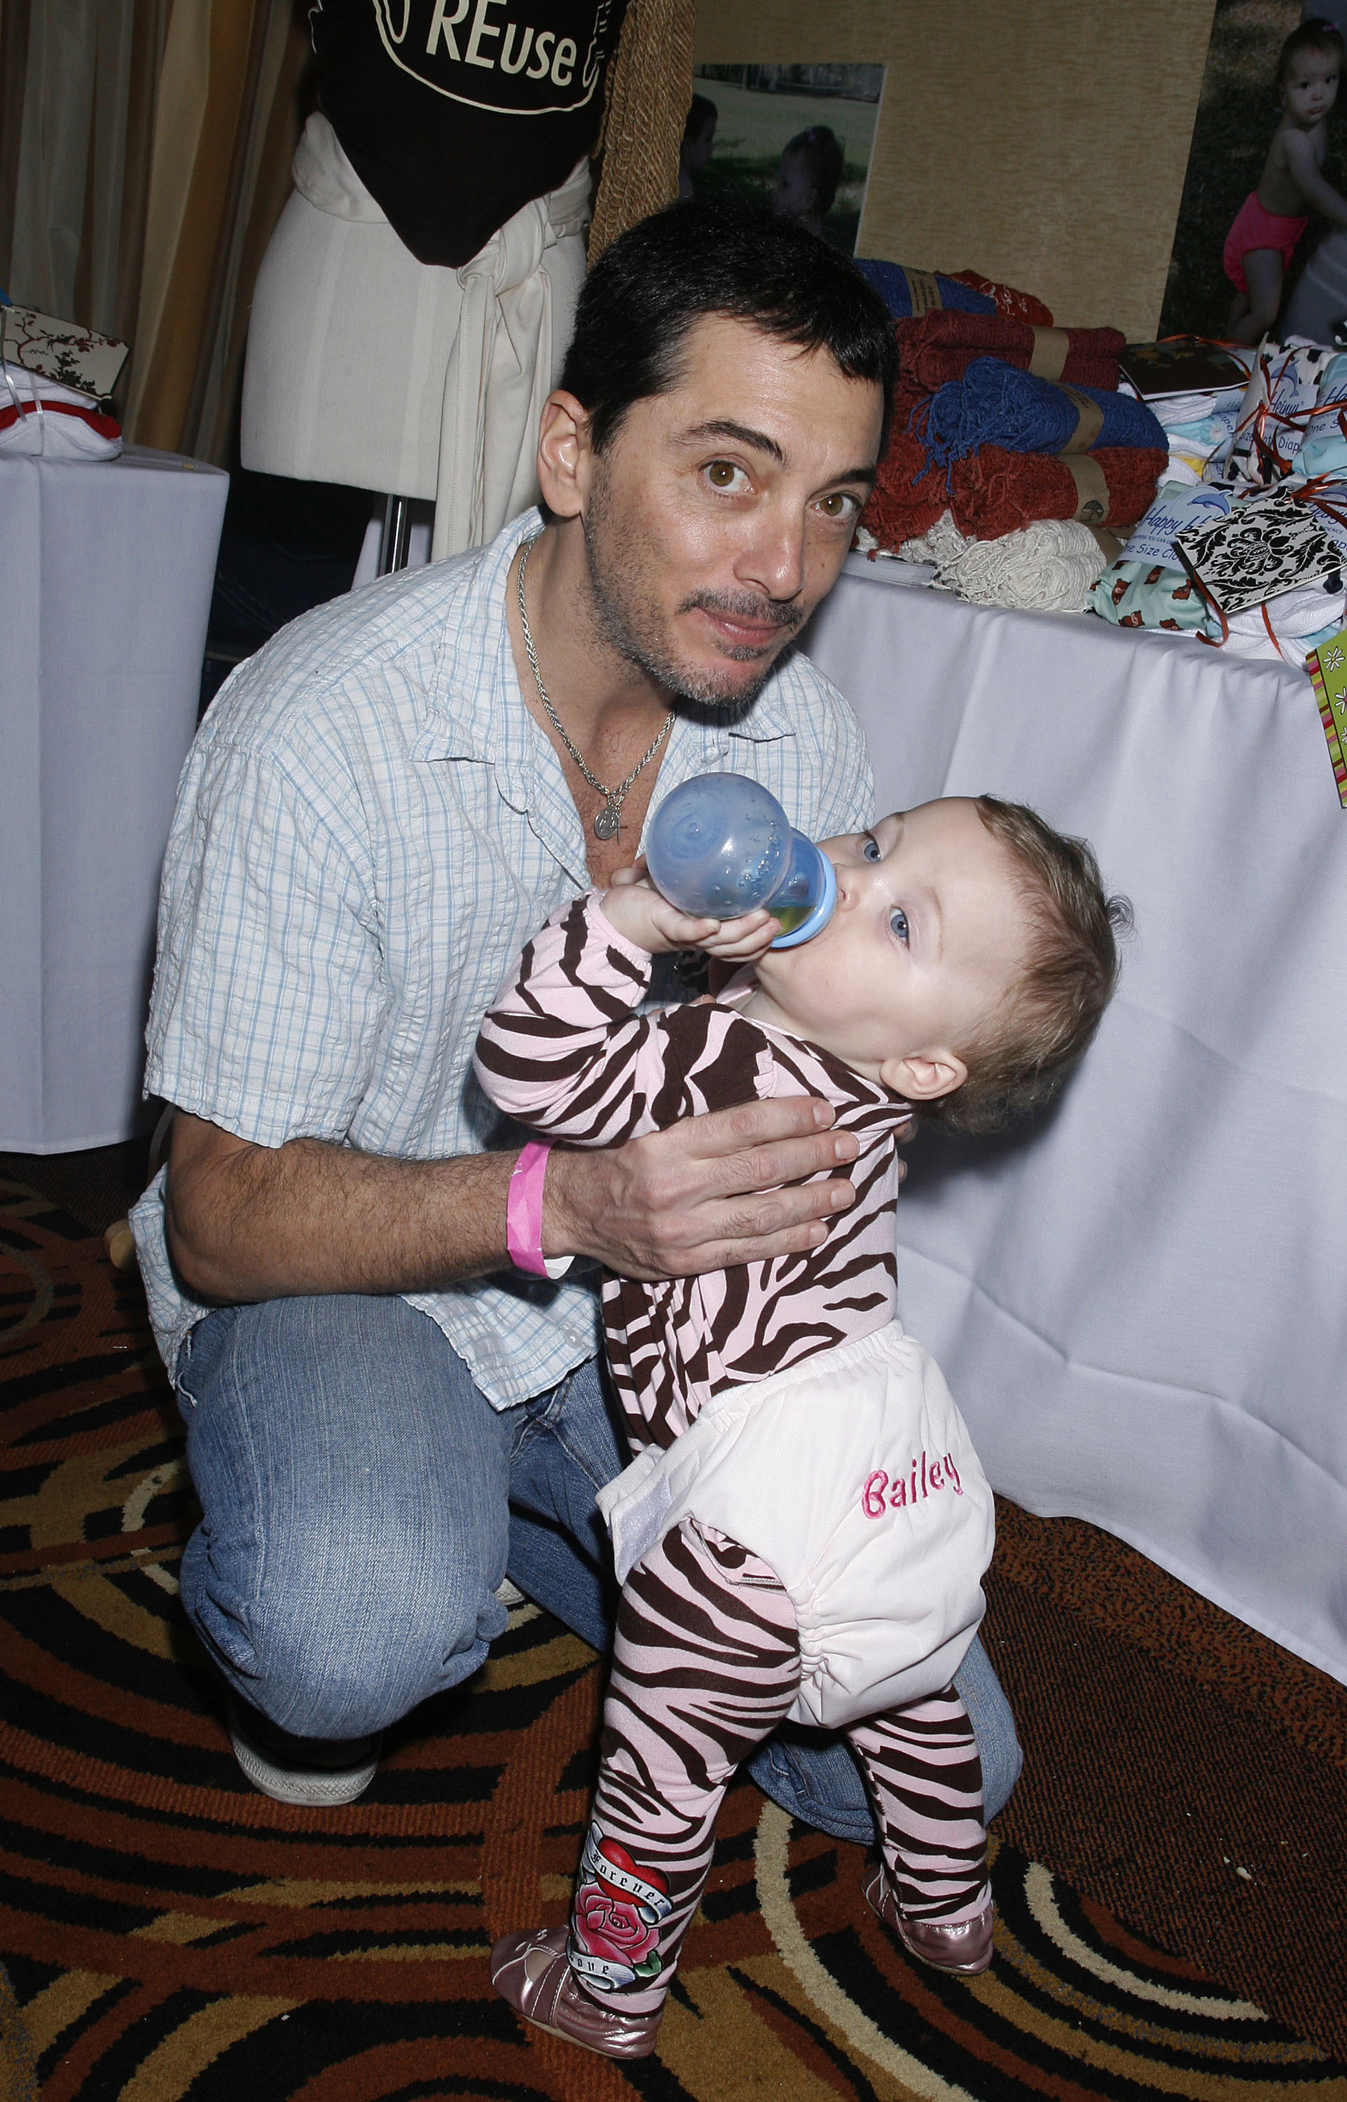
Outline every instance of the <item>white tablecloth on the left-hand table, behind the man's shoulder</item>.
{"type": "Polygon", "coordinates": [[[160,862],[229,477],[0,458],[0,1148],[141,1129],[160,862]]]}

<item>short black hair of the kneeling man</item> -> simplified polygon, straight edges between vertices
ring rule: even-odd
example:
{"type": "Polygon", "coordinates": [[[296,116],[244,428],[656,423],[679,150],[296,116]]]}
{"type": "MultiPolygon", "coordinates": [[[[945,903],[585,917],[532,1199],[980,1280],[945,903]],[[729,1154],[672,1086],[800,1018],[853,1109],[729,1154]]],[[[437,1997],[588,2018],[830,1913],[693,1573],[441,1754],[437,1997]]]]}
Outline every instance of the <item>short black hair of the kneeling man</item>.
{"type": "Polygon", "coordinates": [[[874,380],[889,437],[893,322],[847,256],[794,219],[725,204],[672,204],[628,227],[584,280],[561,385],[588,410],[595,452],[633,401],[679,385],[683,343],[708,313],[750,322],[847,378],[874,380]]]}

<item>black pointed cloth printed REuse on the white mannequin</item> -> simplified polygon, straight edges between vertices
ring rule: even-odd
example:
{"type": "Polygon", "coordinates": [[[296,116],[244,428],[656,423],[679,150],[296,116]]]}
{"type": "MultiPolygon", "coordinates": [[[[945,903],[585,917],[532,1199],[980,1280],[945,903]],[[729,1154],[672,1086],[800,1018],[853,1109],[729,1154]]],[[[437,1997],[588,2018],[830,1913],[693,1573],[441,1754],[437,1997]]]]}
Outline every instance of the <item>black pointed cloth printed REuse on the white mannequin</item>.
{"type": "Polygon", "coordinates": [[[599,137],[626,0],[319,0],[322,107],[418,263],[458,267],[599,137]]]}

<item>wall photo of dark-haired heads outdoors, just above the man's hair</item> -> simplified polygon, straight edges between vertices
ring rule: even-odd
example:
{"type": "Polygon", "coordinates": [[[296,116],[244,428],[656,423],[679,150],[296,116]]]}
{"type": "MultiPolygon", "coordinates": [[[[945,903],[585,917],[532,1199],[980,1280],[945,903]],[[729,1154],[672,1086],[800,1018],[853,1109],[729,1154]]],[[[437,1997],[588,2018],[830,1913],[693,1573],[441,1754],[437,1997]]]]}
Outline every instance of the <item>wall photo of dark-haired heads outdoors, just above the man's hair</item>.
{"type": "Polygon", "coordinates": [[[698,65],[679,195],[771,206],[853,254],[883,90],[883,65],[698,65]]]}

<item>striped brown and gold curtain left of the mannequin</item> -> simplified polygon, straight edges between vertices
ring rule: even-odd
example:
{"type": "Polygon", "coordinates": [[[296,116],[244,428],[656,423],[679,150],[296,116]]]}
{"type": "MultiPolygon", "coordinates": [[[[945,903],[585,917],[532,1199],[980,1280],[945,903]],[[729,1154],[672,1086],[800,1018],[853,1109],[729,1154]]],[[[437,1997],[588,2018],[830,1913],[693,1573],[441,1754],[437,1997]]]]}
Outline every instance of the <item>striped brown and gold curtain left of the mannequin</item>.
{"type": "Polygon", "coordinates": [[[0,284],[130,343],[128,439],[227,465],[311,103],[303,0],[0,0],[0,284]]]}

